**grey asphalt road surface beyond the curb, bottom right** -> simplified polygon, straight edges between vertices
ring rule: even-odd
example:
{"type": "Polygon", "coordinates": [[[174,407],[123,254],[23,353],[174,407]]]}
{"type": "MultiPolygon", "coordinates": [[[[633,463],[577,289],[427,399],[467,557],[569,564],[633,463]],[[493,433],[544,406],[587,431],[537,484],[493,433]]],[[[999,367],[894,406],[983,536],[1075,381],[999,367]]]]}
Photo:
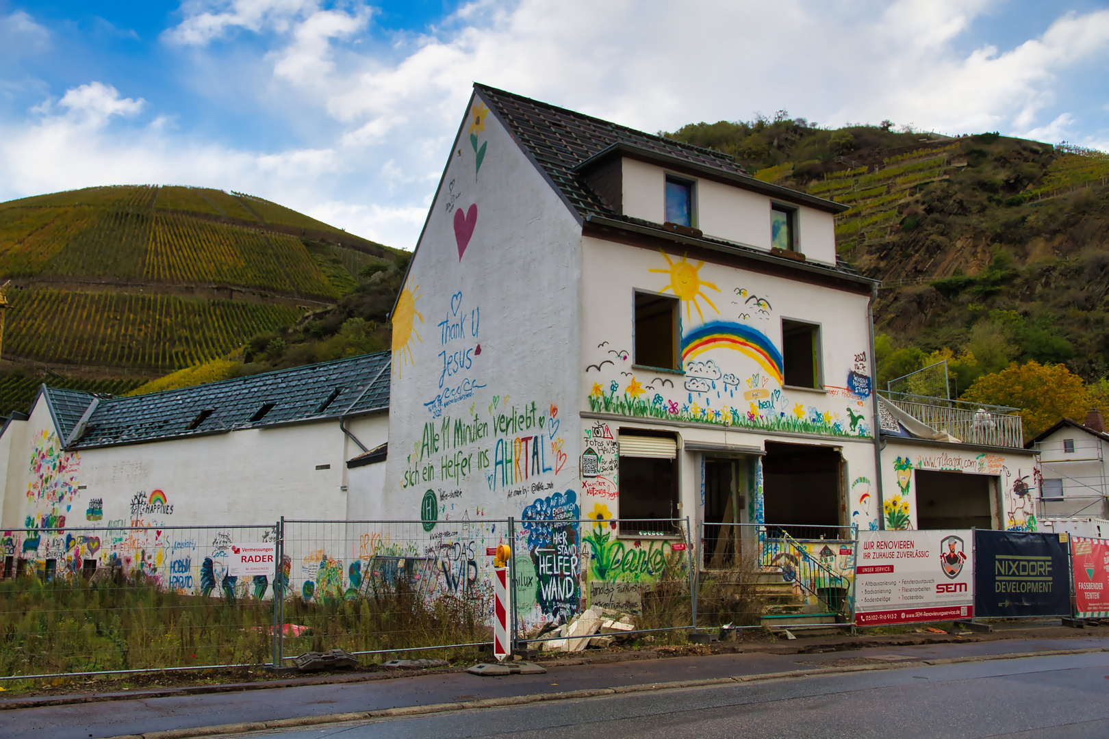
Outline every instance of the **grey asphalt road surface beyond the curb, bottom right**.
{"type": "Polygon", "coordinates": [[[845,673],[240,737],[1109,737],[1109,654],[845,673]]]}

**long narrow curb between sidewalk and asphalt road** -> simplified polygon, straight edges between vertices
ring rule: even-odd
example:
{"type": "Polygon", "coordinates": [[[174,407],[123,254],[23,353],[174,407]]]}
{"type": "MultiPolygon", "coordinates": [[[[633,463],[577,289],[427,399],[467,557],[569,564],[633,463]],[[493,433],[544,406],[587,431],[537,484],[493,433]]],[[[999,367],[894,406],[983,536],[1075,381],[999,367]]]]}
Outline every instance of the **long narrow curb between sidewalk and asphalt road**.
{"type": "Polygon", "coordinates": [[[718,685],[740,685],[745,682],[763,682],[800,677],[817,677],[844,673],[869,673],[874,670],[903,669],[919,665],[955,665],[959,663],[985,663],[1000,659],[1022,659],[1026,657],[1061,657],[1067,655],[1085,655],[1109,651],[1109,647],[1087,647],[1083,649],[1045,649],[1041,651],[1015,651],[1004,655],[981,655],[969,657],[949,657],[943,659],[913,659],[884,665],[846,665],[843,667],[817,667],[797,669],[784,673],[763,673],[761,675],[740,675],[736,677],[719,677],[704,680],[676,680],[673,682],[647,682],[643,685],[625,685],[614,688],[593,688],[589,690],[566,690],[562,692],[541,692],[506,698],[484,698],[480,700],[464,700],[454,704],[428,704],[426,706],[404,706],[384,708],[374,711],[357,711],[353,714],[324,714],[322,716],[304,716],[299,718],[276,719],[273,721],[252,721],[245,723],[222,723],[217,726],[194,727],[191,729],[169,729],[166,731],[147,731],[141,735],[123,735],[110,739],[191,739],[192,737],[210,737],[225,733],[246,733],[268,729],[289,729],[323,723],[342,723],[345,721],[366,721],[375,718],[395,718],[399,716],[421,716],[426,714],[444,714],[448,711],[469,710],[472,708],[505,708],[523,706],[548,700],[574,700],[580,698],[600,698],[603,696],[625,695],[633,692],[651,692],[654,690],[678,690],[682,688],[700,688],[718,685]]]}

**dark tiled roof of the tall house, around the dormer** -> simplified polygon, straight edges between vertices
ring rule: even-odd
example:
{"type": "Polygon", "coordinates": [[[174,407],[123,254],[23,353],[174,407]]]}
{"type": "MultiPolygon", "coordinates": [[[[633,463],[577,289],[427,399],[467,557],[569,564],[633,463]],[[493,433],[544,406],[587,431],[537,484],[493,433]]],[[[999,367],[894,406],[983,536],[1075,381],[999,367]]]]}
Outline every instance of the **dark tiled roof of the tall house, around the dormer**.
{"type": "MultiPolygon", "coordinates": [[[[474,85],[478,96],[496,113],[509,129],[523,151],[528,153],[542,172],[550,178],[554,187],[574,208],[582,220],[611,219],[622,220],[633,226],[647,226],[658,229],[661,234],[670,232],[661,228],[661,224],[651,224],[639,218],[631,218],[615,213],[589,186],[578,167],[588,160],[598,156],[607,150],[634,150],[640,156],[658,156],[668,160],[675,166],[685,165],[692,171],[712,171],[739,186],[746,187],[770,196],[813,207],[841,213],[847,206],[832,201],[808,195],[800,191],[765,183],[755,179],[735,162],[735,158],[722,152],[693,146],[671,138],[635,131],[601,119],[594,119],[563,107],[549,105],[530,97],[517,95],[505,90],[497,90],[484,84],[474,85]]],[[[724,245],[759,254],[766,258],[765,252],[745,247],[723,239],[701,236],[696,240],[724,245]]],[[[774,261],[786,263],[785,259],[773,258],[774,261]]],[[[795,266],[796,263],[793,263],[795,266]]],[[[851,265],[838,257],[834,267],[808,263],[810,268],[827,269],[841,275],[849,275],[856,281],[872,281],[862,277],[851,265]]]]}

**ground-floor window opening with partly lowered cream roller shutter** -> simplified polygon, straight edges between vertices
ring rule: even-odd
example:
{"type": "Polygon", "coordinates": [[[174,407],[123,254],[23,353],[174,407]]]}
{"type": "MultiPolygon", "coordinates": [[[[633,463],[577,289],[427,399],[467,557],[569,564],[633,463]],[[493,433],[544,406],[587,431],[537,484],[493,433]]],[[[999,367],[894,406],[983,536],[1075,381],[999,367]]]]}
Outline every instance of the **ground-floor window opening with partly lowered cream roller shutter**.
{"type": "Polygon", "coordinates": [[[678,441],[671,434],[620,433],[620,532],[674,533],[678,441]]]}

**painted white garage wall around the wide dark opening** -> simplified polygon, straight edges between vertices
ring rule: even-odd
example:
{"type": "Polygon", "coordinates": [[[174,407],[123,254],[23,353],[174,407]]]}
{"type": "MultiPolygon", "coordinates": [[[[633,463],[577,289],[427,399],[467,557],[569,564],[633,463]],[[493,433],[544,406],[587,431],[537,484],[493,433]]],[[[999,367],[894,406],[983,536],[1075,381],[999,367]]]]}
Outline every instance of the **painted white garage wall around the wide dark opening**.
{"type": "Polygon", "coordinates": [[[997,511],[1008,531],[1037,531],[1036,458],[1029,453],[960,449],[957,444],[923,447],[887,439],[882,450],[884,528],[917,527],[917,470],[960,472],[997,479],[997,511]]]}

